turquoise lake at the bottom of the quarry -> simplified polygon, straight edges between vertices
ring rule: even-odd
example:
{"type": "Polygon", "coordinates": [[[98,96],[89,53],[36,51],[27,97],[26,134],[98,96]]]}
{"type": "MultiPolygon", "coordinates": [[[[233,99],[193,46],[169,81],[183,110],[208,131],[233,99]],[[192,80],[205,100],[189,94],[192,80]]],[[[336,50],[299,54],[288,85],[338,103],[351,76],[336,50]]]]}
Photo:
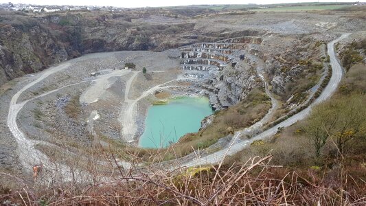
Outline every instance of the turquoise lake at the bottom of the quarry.
{"type": "Polygon", "coordinates": [[[209,100],[203,97],[180,97],[170,99],[168,104],[153,105],[148,110],[139,146],[164,148],[187,133],[196,133],[201,120],[211,114],[209,100]]]}

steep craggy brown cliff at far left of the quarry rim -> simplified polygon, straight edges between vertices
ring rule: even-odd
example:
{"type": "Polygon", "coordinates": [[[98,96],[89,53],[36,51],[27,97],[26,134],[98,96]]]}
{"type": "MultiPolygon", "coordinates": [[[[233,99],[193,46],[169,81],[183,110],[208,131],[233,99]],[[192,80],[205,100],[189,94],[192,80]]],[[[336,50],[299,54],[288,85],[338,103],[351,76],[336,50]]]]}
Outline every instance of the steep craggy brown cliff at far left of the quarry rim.
{"type": "Polygon", "coordinates": [[[80,56],[81,42],[73,42],[73,34],[52,31],[33,19],[0,27],[0,85],[24,73],[80,56]]]}

